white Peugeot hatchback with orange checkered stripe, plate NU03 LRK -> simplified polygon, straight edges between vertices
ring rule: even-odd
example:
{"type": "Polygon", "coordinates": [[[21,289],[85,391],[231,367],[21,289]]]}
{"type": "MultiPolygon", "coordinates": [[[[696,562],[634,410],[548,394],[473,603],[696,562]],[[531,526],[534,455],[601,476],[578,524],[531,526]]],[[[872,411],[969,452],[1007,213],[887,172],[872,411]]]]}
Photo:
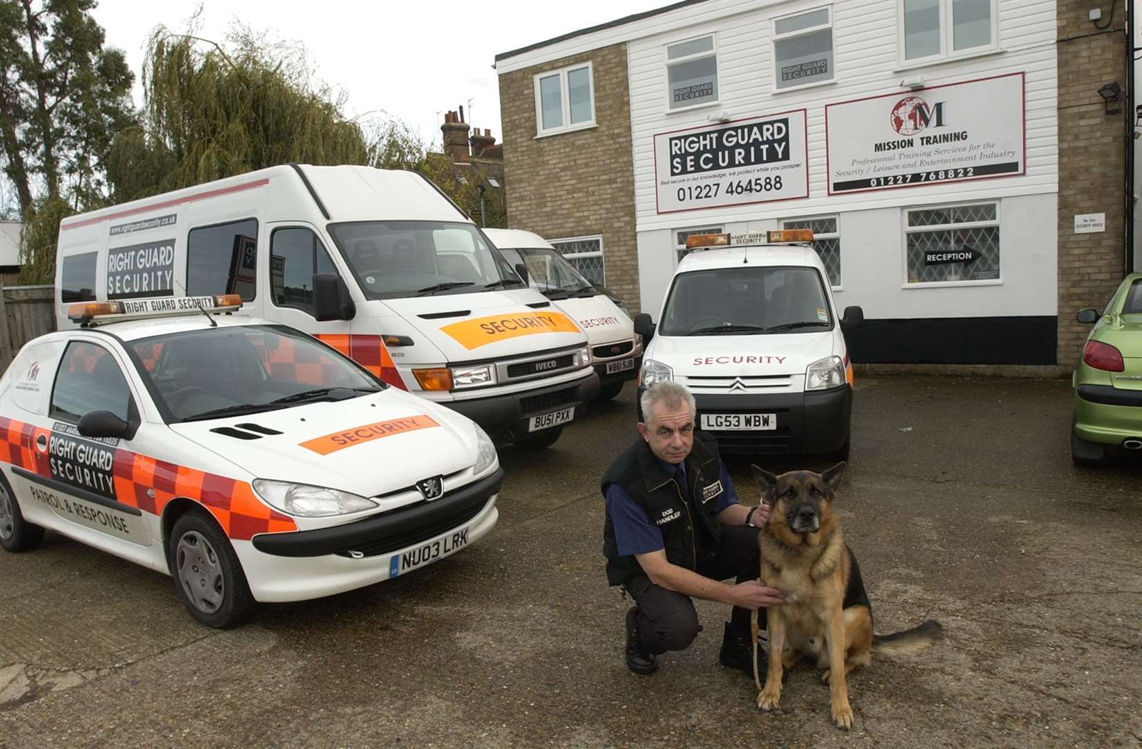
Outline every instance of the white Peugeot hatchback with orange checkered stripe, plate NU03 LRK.
{"type": "Polygon", "coordinates": [[[257,602],[395,578],[488,533],[483,429],[241,297],[77,304],[0,378],[0,545],[50,529],[175,580],[231,627],[257,602]]]}

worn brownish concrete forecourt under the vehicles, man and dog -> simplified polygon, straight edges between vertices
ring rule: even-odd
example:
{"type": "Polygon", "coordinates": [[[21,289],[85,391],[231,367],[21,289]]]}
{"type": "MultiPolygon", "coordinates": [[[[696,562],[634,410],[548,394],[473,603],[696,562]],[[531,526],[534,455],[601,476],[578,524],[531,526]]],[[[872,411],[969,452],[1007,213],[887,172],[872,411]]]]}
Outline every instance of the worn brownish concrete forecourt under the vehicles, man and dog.
{"type": "Polygon", "coordinates": [[[722,605],[657,674],[626,670],[597,482],[635,434],[628,386],[555,448],[501,451],[500,522],[472,548],[235,631],[58,535],[0,555],[0,746],[1142,746],[1140,461],[1071,466],[1065,381],[859,386],[837,507],[876,628],[947,634],[850,677],[850,733],[807,667],[758,711],[717,665],[722,605]]]}

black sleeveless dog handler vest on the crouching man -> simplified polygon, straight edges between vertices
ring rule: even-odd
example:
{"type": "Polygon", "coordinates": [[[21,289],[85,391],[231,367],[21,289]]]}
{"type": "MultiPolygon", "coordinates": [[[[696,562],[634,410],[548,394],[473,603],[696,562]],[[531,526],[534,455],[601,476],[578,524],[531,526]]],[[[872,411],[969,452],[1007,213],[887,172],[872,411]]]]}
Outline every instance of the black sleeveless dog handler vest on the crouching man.
{"type": "MultiPolygon", "coordinates": [[[[602,490],[611,484],[621,486],[646,517],[662,532],[666,559],[687,570],[711,559],[722,539],[722,526],[714,520],[714,507],[726,491],[719,477],[717,442],[703,432],[694,433],[694,444],[685,460],[687,486],[682,474],[670,476],[650,445],[642,437],[620,454],[603,474],[602,490]],[[687,501],[691,500],[691,501],[687,501]]],[[[614,522],[610,512],[603,524],[603,555],[606,557],[606,580],[622,585],[643,574],[634,556],[619,554],[614,539],[614,522]]]]}

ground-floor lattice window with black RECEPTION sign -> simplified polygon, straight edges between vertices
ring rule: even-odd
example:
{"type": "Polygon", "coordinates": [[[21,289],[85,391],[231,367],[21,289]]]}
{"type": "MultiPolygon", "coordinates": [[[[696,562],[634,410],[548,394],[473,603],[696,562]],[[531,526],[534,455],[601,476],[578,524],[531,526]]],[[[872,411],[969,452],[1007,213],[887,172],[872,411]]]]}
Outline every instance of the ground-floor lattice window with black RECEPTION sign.
{"type": "Polygon", "coordinates": [[[908,283],[995,281],[1000,277],[999,204],[971,203],[906,211],[908,283]],[[970,252],[974,259],[932,263],[930,256],[970,252]]]}

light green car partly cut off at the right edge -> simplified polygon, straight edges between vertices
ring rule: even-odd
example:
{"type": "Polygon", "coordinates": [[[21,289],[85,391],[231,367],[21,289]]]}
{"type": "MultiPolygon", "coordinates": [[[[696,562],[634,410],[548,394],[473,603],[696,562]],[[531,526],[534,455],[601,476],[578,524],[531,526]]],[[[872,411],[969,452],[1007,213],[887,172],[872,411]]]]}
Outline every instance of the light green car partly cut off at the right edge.
{"type": "Polygon", "coordinates": [[[1142,454],[1142,273],[1123,280],[1102,315],[1083,309],[1076,319],[1096,324],[1071,380],[1071,459],[1102,465],[1119,448],[1142,454]]]}

